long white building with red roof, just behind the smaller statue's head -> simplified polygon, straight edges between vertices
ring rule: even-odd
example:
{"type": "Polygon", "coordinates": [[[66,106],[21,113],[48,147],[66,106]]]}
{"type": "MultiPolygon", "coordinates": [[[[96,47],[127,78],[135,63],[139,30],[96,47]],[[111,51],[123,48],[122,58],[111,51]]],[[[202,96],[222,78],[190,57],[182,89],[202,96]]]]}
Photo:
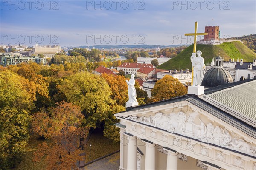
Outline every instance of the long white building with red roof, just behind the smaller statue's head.
{"type": "Polygon", "coordinates": [[[137,74],[137,71],[140,69],[140,68],[143,68],[143,67],[151,67],[153,68],[153,65],[151,64],[145,64],[145,63],[129,63],[129,62],[125,62],[125,63],[122,63],[121,65],[119,65],[117,67],[117,70],[122,70],[125,72],[125,74],[134,74],[136,75],[137,74]]]}

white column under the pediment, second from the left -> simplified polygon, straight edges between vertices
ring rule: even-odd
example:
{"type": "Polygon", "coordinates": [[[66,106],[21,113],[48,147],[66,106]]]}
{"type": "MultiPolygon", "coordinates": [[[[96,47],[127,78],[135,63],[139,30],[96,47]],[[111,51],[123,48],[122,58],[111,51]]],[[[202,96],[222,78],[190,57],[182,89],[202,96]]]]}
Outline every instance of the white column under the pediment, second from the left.
{"type": "Polygon", "coordinates": [[[127,170],[137,169],[137,137],[128,136],[127,170]]]}

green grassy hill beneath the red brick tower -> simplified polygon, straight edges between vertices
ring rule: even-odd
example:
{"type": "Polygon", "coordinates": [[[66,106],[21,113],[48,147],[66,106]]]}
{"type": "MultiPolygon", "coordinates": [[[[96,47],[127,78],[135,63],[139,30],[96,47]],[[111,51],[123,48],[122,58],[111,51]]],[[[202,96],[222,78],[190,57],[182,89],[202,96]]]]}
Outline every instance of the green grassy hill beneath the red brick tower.
{"type": "MultiPolygon", "coordinates": [[[[237,58],[244,59],[244,62],[253,62],[253,59],[256,58],[256,53],[250,50],[247,46],[242,44],[239,41],[225,42],[220,45],[197,45],[197,51],[202,51],[202,57],[204,58],[204,63],[211,62],[212,57],[218,56],[220,53],[221,57],[224,57],[224,61],[228,61],[233,58],[235,61],[237,58]]],[[[193,44],[190,45],[185,50],[181,51],[177,56],[170,59],[168,62],[165,62],[158,66],[162,69],[191,69],[190,57],[193,52],[193,44]]]]}

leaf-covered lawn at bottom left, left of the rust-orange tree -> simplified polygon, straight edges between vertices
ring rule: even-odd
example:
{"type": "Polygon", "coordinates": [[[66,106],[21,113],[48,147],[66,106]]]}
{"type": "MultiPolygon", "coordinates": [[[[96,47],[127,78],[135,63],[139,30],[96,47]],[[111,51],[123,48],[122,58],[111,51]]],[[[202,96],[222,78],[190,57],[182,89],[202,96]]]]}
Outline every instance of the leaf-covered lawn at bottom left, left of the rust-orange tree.
{"type": "Polygon", "coordinates": [[[43,142],[47,142],[47,139],[41,139],[38,135],[31,135],[20,164],[18,164],[17,167],[13,168],[12,170],[45,170],[47,167],[46,161],[32,161],[34,157],[33,152],[35,152],[38,144],[41,144],[43,142]]]}

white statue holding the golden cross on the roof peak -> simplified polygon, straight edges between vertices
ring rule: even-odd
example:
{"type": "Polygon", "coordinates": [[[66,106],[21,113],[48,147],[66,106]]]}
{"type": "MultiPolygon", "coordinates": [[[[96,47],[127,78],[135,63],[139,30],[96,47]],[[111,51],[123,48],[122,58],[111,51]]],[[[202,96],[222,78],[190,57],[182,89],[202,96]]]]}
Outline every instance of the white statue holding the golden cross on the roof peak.
{"type": "Polygon", "coordinates": [[[192,53],[192,56],[190,57],[193,68],[193,86],[200,86],[204,75],[205,65],[204,58],[201,57],[202,52],[197,51],[196,54],[192,53]]]}

